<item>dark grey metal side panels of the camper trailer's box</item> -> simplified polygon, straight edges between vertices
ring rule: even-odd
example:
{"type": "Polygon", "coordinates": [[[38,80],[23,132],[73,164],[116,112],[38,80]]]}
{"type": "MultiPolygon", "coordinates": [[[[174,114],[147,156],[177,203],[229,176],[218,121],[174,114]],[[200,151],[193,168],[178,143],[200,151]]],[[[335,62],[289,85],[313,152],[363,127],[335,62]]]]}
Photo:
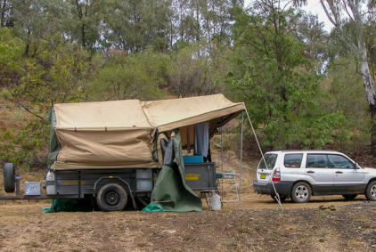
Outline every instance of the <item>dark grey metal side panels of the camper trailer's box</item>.
{"type": "MultiPolygon", "coordinates": [[[[184,164],[184,167],[185,183],[193,191],[217,189],[215,163],[184,164]]],[[[53,175],[50,173],[46,176],[45,185],[48,196],[83,198],[84,195],[96,194],[102,185],[117,181],[123,184],[127,192],[130,192],[131,197],[135,197],[138,193],[151,193],[159,171],[160,169],[157,168],[55,170],[53,175]],[[137,176],[141,170],[149,172],[150,176],[137,176]],[[148,183],[150,187],[147,186],[148,183]]]]}

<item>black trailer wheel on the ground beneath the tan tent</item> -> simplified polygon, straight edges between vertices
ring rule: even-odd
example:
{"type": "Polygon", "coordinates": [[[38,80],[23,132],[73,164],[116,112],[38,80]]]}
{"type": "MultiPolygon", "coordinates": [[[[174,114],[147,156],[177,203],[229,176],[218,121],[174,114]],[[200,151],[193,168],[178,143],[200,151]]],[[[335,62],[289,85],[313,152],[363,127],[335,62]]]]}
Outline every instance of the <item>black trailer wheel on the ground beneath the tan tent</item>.
{"type": "Polygon", "coordinates": [[[102,211],[121,211],[127,205],[127,191],[118,183],[107,183],[96,195],[96,203],[102,211]]]}

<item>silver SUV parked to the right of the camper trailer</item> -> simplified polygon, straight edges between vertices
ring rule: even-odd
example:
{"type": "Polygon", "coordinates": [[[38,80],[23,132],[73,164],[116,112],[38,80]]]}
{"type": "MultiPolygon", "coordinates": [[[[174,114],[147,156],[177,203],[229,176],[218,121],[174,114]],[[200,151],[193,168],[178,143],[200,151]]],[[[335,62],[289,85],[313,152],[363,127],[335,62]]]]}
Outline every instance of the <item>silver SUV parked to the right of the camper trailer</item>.
{"type": "Polygon", "coordinates": [[[345,154],[333,150],[279,150],[264,155],[257,167],[253,189],[274,198],[304,203],[312,195],[343,195],[355,199],[365,194],[376,200],[376,169],[360,167],[345,154]]]}

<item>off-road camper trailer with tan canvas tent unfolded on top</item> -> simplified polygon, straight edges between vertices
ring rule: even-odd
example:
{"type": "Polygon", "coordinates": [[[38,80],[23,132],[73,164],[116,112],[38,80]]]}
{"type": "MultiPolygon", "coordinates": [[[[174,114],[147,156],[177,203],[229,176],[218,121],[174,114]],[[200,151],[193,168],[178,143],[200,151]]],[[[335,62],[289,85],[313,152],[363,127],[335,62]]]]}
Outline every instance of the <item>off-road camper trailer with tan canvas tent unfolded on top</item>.
{"type": "Polygon", "coordinates": [[[217,190],[209,139],[243,110],[243,103],[222,94],[54,104],[45,195],[41,183],[25,183],[25,195],[20,195],[20,176],[7,163],[5,191],[17,192],[0,199],[93,197],[104,211],[121,210],[128,200],[137,207],[135,199],[147,205],[166,165],[166,145],[176,134],[188,153],[183,157],[185,183],[193,191],[217,190]]]}

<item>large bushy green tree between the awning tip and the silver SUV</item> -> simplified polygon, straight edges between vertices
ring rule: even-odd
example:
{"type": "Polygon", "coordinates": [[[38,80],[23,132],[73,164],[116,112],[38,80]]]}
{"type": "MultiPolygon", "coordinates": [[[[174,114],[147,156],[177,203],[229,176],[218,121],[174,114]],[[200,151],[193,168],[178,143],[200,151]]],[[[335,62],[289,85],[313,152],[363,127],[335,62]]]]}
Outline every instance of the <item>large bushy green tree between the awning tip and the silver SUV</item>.
{"type": "Polygon", "coordinates": [[[294,39],[296,31],[288,22],[298,20],[297,15],[274,6],[260,8],[261,14],[238,16],[238,68],[228,76],[229,91],[246,102],[266,146],[321,149],[338,132],[345,134],[345,118],[340,111],[323,111],[320,99],[329,95],[321,86],[322,76],[312,68],[307,45],[294,39]]]}

